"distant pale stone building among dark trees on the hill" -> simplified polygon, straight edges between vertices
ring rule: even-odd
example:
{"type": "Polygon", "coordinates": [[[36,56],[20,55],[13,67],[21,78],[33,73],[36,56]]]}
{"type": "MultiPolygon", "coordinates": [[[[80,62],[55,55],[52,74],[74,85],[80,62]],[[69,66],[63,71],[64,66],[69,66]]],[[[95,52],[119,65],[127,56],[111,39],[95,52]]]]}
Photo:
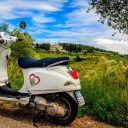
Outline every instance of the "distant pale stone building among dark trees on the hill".
{"type": "Polygon", "coordinates": [[[57,52],[57,51],[66,52],[66,50],[63,49],[63,46],[60,44],[51,44],[50,45],[50,51],[52,51],[52,52],[57,52]]]}

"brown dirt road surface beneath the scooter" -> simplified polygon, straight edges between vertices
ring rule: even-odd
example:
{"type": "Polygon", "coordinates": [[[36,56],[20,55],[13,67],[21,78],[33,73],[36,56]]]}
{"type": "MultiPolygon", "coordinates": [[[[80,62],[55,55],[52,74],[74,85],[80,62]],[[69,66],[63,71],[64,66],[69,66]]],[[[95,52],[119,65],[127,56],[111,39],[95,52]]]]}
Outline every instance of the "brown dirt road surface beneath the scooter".
{"type": "Polygon", "coordinates": [[[94,121],[88,116],[77,118],[71,125],[62,127],[50,123],[45,117],[36,123],[32,123],[30,111],[25,109],[0,108],[0,128],[116,128],[114,126],[94,121]]]}

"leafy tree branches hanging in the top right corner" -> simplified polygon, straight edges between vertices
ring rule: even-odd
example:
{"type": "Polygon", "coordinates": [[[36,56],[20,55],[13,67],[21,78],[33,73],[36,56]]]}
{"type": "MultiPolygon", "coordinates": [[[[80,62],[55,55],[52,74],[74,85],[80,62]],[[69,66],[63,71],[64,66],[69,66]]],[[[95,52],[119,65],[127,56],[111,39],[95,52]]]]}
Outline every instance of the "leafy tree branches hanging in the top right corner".
{"type": "Polygon", "coordinates": [[[100,15],[100,22],[128,34],[128,0],[91,0],[90,8],[100,15]]]}

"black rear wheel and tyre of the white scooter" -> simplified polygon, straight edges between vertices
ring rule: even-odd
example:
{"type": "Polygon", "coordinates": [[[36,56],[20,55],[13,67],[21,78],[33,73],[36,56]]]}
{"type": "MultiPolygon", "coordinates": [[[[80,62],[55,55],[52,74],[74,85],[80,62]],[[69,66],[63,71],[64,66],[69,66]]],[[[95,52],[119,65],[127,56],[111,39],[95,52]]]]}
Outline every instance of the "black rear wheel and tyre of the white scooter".
{"type": "Polygon", "coordinates": [[[66,107],[67,112],[63,117],[48,115],[50,120],[59,125],[68,125],[72,123],[78,113],[78,104],[76,101],[67,93],[60,93],[55,102],[66,107]]]}

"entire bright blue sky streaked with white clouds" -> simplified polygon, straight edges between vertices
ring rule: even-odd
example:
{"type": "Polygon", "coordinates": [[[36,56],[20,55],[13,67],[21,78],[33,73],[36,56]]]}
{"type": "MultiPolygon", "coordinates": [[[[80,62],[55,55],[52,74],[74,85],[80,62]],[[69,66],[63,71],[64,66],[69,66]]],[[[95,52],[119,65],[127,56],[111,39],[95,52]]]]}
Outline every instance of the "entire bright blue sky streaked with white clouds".
{"type": "Polygon", "coordinates": [[[0,0],[0,24],[9,23],[12,30],[19,21],[24,20],[27,23],[24,31],[30,33],[39,43],[82,43],[107,50],[123,51],[123,54],[128,53],[128,45],[123,41],[126,35],[117,33],[112,37],[115,30],[99,23],[99,16],[94,10],[86,12],[88,1],[0,0]],[[121,46],[122,49],[116,50],[118,48],[114,48],[115,46],[121,46]]]}

